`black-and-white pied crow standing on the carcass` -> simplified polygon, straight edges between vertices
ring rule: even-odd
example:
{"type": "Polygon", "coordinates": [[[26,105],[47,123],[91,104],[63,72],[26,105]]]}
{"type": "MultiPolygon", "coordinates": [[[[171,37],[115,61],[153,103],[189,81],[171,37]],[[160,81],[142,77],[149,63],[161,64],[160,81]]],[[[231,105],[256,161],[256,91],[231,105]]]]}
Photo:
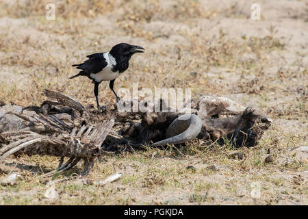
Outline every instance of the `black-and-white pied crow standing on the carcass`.
{"type": "Polygon", "coordinates": [[[100,110],[99,105],[99,83],[101,81],[110,81],[109,87],[116,95],[116,101],[120,98],[114,91],[114,80],[129,67],[129,60],[134,53],[143,53],[144,48],[139,46],[130,45],[127,43],[116,44],[107,53],[94,53],[87,55],[88,60],[81,64],[73,64],[81,71],[70,79],[78,76],[86,76],[92,79],[94,83],[94,94],[97,99],[97,108],[100,110]]]}

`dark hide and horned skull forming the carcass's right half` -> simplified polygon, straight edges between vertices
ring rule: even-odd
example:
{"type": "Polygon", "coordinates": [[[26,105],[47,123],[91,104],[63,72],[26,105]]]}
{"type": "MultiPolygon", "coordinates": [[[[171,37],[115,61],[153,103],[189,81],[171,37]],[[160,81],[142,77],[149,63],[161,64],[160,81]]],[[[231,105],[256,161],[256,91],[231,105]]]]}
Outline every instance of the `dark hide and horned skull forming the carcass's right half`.
{"type": "Polygon", "coordinates": [[[203,96],[195,105],[192,112],[198,118],[186,115],[187,121],[179,118],[179,112],[140,113],[140,123],[125,128],[130,133],[127,142],[132,146],[162,146],[188,142],[197,136],[199,139],[217,141],[218,144],[228,140],[236,147],[250,147],[257,144],[272,122],[263,112],[245,108],[226,98],[203,96]]]}

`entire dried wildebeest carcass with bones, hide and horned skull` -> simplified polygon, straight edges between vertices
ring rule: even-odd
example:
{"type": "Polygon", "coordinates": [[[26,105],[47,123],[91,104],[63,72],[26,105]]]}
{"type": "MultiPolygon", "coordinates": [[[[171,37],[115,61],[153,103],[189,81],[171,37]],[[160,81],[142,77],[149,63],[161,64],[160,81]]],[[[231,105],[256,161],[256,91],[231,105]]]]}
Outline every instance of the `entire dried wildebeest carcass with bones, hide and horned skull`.
{"type": "Polygon", "coordinates": [[[85,107],[60,92],[44,92],[55,100],[44,101],[40,107],[25,107],[23,112],[5,112],[2,118],[0,114],[0,159],[12,154],[60,157],[58,168],[46,176],[73,168],[81,159],[81,175],[88,175],[102,151],[127,144],[141,148],[144,144],[181,144],[194,138],[223,144],[222,137],[227,136],[235,146],[254,146],[270,126],[265,114],[211,96],[193,101],[192,114],[123,113],[117,110],[118,103],[114,108],[106,104],[98,112],[92,105],[85,107]],[[15,127],[8,125],[10,120],[15,121],[15,127]],[[64,157],[69,157],[65,164],[64,157]]]}

